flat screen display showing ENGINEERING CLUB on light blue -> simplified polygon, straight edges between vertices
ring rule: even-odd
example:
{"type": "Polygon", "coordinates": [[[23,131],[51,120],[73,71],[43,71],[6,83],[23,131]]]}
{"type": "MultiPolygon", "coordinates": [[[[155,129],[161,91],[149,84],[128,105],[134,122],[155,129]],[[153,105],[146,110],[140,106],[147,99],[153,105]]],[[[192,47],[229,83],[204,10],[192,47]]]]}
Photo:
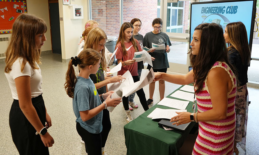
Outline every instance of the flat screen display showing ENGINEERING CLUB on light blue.
{"type": "Polygon", "coordinates": [[[223,28],[230,22],[242,22],[252,48],[256,1],[207,1],[191,3],[190,42],[194,28],[201,23],[217,23],[223,28]]]}

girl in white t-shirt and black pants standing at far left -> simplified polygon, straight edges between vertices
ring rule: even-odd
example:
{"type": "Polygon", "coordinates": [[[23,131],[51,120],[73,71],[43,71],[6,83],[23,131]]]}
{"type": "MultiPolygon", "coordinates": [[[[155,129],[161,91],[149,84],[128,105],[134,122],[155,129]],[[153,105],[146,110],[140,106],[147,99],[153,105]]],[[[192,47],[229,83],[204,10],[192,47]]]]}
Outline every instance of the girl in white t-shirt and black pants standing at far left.
{"type": "Polygon", "coordinates": [[[41,95],[42,76],[38,66],[46,31],[42,19],[21,14],[13,24],[6,52],[4,72],[14,99],[9,125],[19,154],[49,154],[48,147],[54,144],[47,132],[52,123],[41,95]]]}

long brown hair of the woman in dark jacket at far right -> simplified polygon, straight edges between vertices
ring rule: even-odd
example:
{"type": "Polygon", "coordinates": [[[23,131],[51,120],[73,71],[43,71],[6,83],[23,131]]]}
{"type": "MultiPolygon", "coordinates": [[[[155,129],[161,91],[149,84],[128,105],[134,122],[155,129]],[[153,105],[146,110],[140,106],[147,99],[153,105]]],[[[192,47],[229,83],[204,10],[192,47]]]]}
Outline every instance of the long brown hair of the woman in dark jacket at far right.
{"type": "Polygon", "coordinates": [[[251,52],[244,24],[242,22],[232,22],[229,23],[226,28],[230,42],[227,49],[233,50],[235,48],[240,54],[242,64],[248,65],[250,63],[251,52]]]}

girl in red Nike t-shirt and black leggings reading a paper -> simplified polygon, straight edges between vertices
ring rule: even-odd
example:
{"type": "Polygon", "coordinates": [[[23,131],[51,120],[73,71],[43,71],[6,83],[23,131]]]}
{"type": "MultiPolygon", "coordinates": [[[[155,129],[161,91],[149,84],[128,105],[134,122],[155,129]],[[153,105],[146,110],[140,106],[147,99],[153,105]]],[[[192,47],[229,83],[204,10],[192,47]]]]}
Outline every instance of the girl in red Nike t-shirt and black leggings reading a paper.
{"type": "MultiPolygon", "coordinates": [[[[129,22],[125,22],[121,25],[120,34],[115,49],[118,47],[116,58],[118,63],[122,64],[121,70],[118,71],[118,75],[123,75],[126,71],[130,71],[133,81],[137,82],[139,81],[137,72],[138,66],[137,62],[135,62],[136,60],[132,59],[134,57],[134,53],[142,51],[142,49],[138,40],[134,39],[133,37],[133,28],[133,25],[129,22]],[[127,51],[126,48],[130,49],[127,51]]],[[[144,110],[148,110],[149,108],[147,106],[144,90],[141,88],[136,93],[144,110]]],[[[126,120],[127,122],[130,122],[133,120],[133,118],[128,107],[128,97],[123,97],[122,102],[124,110],[126,111],[126,120]]]]}

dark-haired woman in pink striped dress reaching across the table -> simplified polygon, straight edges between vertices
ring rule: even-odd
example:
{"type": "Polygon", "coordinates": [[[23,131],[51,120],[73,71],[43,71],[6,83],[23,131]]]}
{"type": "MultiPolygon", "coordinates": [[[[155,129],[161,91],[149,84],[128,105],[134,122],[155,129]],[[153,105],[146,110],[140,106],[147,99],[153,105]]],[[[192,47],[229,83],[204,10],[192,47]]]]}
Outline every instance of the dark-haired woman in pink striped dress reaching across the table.
{"type": "Polygon", "coordinates": [[[155,73],[155,80],[175,84],[194,82],[197,112],[177,112],[170,122],[199,122],[192,154],[233,154],[235,132],[236,77],[228,61],[222,27],[203,23],[194,29],[190,43],[193,70],[186,75],[155,73]]]}

